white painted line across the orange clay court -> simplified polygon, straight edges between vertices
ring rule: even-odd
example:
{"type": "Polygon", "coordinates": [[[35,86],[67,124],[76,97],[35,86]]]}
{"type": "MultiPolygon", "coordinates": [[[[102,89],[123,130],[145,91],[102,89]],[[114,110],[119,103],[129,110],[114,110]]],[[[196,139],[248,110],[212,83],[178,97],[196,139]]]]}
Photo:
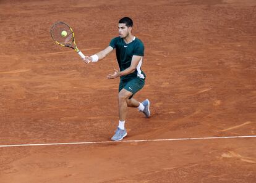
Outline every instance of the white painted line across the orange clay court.
{"type": "Polygon", "coordinates": [[[121,141],[95,141],[95,142],[68,142],[68,143],[53,143],[53,144],[15,144],[15,145],[0,145],[0,147],[21,147],[21,146],[42,146],[42,145],[73,145],[73,144],[110,144],[117,142],[156,142],[156,141],[174,141],[174,140],[203,140],[203,139],[234,139],[234,138],[253,138],[256,136],[229,136],[229,137],[197,137],[183,139],[148,139],[148,140],[121,140],[121,141]]]}

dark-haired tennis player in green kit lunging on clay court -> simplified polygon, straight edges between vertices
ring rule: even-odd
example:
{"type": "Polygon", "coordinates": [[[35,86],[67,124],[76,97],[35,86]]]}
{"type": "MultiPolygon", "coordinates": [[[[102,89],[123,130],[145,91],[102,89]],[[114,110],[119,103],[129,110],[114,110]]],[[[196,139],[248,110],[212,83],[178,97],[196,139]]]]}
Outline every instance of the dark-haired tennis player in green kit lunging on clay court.
{"type": "Polygon", "coordinates": [[[132,19],[124,17],[119,20],[119,37],[112,39],[109,46],[103,51],[90,57],[85,57],[85,63],[98,62],[106,55],[116,49],[116,59],[119,70],[114,70],[114,74],[109,74],[108,79],[120,77],[119,83],[119,125],[112,140],[122,140],[127,136],[124,123],[126,122],[127,107],[137,107],[140,112],[148,118],[150,116],[150,101],[144,100],[142,103],[133,98],[145,84],[145,74],[140,67],[144,56],[144,46],[140,39],[132,35],[132,19]]]}

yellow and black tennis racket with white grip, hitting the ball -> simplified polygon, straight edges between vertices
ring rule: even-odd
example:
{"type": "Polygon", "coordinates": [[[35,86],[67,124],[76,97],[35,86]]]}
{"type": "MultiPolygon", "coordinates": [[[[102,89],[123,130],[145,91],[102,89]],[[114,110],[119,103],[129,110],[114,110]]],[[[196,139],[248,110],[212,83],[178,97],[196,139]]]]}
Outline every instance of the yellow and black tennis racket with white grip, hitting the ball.
{"type": "Polygon", "coordinates": [[[83,53],[77,48],[77,44],[75,44],[74,31],[69,25],[67,25],[67,23],[54,23],[51,27],[50,33],[55,43],[59,44],[60,46],[70,47],[74,49],[82,59],[85,58],[85,55],[83,55],[83,53]]]}

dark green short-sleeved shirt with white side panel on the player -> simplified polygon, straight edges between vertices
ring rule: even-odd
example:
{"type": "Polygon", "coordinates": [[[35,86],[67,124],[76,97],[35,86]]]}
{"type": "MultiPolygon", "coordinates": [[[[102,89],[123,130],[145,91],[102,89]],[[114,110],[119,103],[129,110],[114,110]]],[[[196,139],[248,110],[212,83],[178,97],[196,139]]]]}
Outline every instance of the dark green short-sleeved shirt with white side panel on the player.
{"type": "MultiPolygon", "coordinates": [[[[123,38],[116,37],[112,39],[109,43],[109,46],[113,47],[113,49],[116,49],[116,59],[120,68],[120,71],[126,70],[126,68],[130,67],[130,64],[132,63],[132,56],[138,55],[138,56],[144,56],[144,45],[140,39],[135,38],[133,41],[129,44],[126,44],[124,42],[123,38]]],[[[145,73],[141,70],[142,66],[142,59],[140,60],[139,64],[137,65],[137,69],[126,76],[121,76],[121,79],[132,79],[132,78],[142,78],[145,79],[145,73]]]]}

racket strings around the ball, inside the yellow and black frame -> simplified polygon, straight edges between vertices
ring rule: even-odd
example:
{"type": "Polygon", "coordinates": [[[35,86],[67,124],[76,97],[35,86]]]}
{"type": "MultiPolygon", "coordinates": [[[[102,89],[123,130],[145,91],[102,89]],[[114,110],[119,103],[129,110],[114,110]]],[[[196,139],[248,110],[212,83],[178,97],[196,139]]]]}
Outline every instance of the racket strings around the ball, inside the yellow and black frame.
{"type": "Polygon", "coordinates": [[[73,32],[70,30],[70,27],[63,22],[55,23],[52,26],[51,36],[53,37],[54,41],[58,42],[59,44],[64,44],[65,46],[71,46],[74,41],[73,32]],[[66,31],[67,35],[63,36],[62,31],[66,31]]]}

